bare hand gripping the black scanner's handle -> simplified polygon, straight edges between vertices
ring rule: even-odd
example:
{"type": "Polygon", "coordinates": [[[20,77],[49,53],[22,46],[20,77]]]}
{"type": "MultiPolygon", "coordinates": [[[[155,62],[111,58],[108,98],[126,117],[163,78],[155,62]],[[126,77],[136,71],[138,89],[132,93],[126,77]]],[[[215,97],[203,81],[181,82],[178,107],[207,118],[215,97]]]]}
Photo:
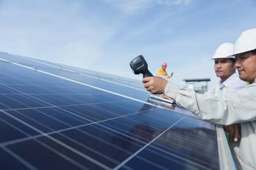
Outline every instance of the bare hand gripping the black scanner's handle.
{"type": "Polygon", "coordinates": [[[152,94],[162,94],[168,83],[167,80],[161,77],[145,77],[142,79],[142,82],[144,83],[146,90],[150,91],[152,94]]]}

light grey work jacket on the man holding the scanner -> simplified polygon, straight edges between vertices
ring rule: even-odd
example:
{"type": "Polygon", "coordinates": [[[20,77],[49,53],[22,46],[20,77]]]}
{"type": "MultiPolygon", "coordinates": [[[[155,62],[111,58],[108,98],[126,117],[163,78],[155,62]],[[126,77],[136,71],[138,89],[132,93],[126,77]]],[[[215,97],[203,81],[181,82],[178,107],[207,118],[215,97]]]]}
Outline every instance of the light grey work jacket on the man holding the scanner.
{"type": "Polygon", "coordinates": [[[206,98],[194,90],[167,83],[164,93],[207,122],[241,124],[241,139],[229,146],[238,169],[256,169],[256,79],[222,98],[206,98]]]}

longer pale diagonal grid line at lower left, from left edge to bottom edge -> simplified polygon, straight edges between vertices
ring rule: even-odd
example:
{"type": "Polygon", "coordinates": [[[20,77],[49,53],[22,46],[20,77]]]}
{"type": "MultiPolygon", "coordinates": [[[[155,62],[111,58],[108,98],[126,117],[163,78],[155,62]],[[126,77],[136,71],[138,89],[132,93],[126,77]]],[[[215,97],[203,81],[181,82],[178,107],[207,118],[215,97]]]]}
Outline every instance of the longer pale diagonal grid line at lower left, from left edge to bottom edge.
{"type": "Polygon", "coordinates": [[[23,123],[23,124],[29,126],[31,129],[33,129],[33,130],[35,130],[35,131],[37,131],[37,132],[39,132],[39,133],[41,133],[41,134],[44,134],[44,136],[50,138],[51,140],[55,141],[56,143],[62,145],[63,147],[69,149],[70,151],[76,153],[77,155],[79,155],[79,156],[81,156],[81,157],[83,157],[83,158],[85,158],[85,159],[87,159],[87,160],[89,160],[89,161],[91,161],[91,162],[97,164],[98,166],[100,166],[100,167],[102,167],[102,168],[104,168],[104,169],[111,169],[111,168],[105,166],[104,164],[102,164],[101,162],[98,162],[97,160],[92,159],[91,157],[89,157],[89,156],[87,156],[87,155],[85,155],[85,154],[83,154],[83,153],[81,153],[81,152],[79,152],[79,151],[73,149],[72,147],[70,147],[70,146],[67,145],[66,143],[63,143],[63,142],[61,142],[61,141],[59,141],[59,140],[57,140],[57,139],[55,139],[55,138],[53,138],[53,137],[47,135],[45,132],[42,132],[42,131],[40,131],[40,130],[38,130],[38,129],[32,127],[32,126],[30,126],[29,124],[27,124],[27,123],[24,122],[23,120],[17,119],[16,117],[12,116],[11,114],[9,114],[9,113],[7,113],[7,112],[5,112],[5,111],[3,111],[3,110],[0,110],[0,111],[3,112],[4,114],[7,114],[8,116],[10,116],[10,117],[12,117],[12,118],[18,120],[18,122],[23,123]]]}

